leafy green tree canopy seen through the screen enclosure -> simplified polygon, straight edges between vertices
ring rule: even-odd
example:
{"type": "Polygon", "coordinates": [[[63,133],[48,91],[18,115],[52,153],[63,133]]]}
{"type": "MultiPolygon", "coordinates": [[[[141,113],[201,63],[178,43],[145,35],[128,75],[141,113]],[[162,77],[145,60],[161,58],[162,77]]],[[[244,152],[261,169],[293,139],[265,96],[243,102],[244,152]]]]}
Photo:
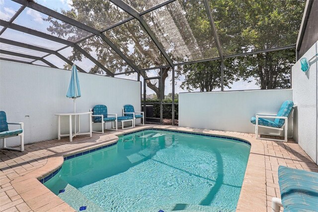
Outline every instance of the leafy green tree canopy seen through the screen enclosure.
{"type": "MultiPolygon", "coordinates": [[[[145,0],[125,0],[141,12],[154,6],[145,0]]],[[[305,0],[210,0],[213,17],[225,55],[250,52],[294,44],[297,39],[305,0]]],[[[72,7],[61,11],[98,30],[130,17],[128,13],[108,0],[72,0],[72,7]]],[[[218,57],[216,43],[202,0],[176,0],[143,15],[146,23],[174,62],[196,61],[218,57]]],[[[48,31],[72,40],[83,37],[76,27],[70,27],[52,17],[48,31]]],[[[106,30],[103,34],[110,39],[139,69],[167,65],[167,61],[137,19],[106,30]]],[[[125,73],[133,69],[100,37],[92,36],[79,46],[113,73],[125,73]]],[[[82,60],[84,56],[73,49],[69,59],[82,60]]],[[[288,65],[293,63],[292,51],[265,53],[225,61],[225,86],[239,78],[254,77],[261,89],[285,88],[288,85],[288,65]]],[[[67,66],[67,65],[66,65],[67,66]]],[[[158,98],[164,93],[170,68],[158,71],[162,81],[147,86],[155,91],[158,98]]],[[[102,74],[97,67],[90,73],[102,74]]],[[[140,72],[143,78],[148,73],[140,72]]],[[[182,88],[199,88],[211,91],[220,87],[220,62],[212,61],[184,65],[177,69],[177,77],[185,76],[182,88]]],[[[162,97],[164,98],[164,97],[162,97]]]]}

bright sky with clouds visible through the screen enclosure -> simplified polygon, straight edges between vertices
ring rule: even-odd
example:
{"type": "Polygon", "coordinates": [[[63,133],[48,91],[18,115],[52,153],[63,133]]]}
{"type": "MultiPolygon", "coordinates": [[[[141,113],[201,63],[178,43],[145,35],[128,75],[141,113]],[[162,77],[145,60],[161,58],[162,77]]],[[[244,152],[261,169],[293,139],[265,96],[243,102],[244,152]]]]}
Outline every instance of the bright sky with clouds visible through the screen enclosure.
{"type": "MultiPolygon", "coordinates": [[[[60,12],[61,9],[65,9],[65,10],[71,9],[72,8],[71,2],[72,0],[37,0],[37,3],[47,6],[50,9],[57,10],[58,12],[60,12]]],[[[21,6],[20,4],[10,0],[0,0],[0,19],[9,21],[10,18],[15,14],[15,12],[20,8],[20,6],[21,6]]],[[[47,18],[47,15],[26,7],[22,11],[22,13],[14,20],[13,23],[18,25],[23,25],[23,26],[35,29],[37,31],[51,34],[49,31],[47,31],[47,28],[50,26],[50,23],[47,21],[44,21],[43,18],[47,18]]],[[[24,43],[35,45],[35,46],[45,47],[52,50],[57,50],[65,46],[64,44],[60,44],[54,41],[39,38],[33,35],[15,31],[12,29],[6,29],[4,33],[0,36],[0,38],[11,39],[11,40],[24,42],[24,43]]],[[[25,48],[17,48],[11,45],[1,44],[1,49],[20,52],[24,54],[39,56],[39,57],[43,56],[43,52],[38,52],[38,51],[29,50],[25,48]]],[[[129,46],[129,49],[131,49],[131,51],[134,51],[134,46],[129,46]]],[[[59,53],[61,53],[65,57],[69,57],[72,54],[72,48],[68,47],[60,51],[59,53]]],[[[95,57],[95,55],[93,55],[92,52],[90,54],[92,54],[92,56],[95,57]]],[[[17,60],[22,59],[16,56],[7,56],[7,57],[12,59],[17,59],[17,60]]],[[[48,56],[45,59],[53,63],[54,65],[56,65],[58,68],[64,67],[65,62],[55,55],[48,56]]],[[[25,58],[23,60],[25,61],[25,58]]],[[[72,61],[72,62],[74,62],[83,70],[89,70],[95,65],[93,62],[91,62],[89,59],[87,59],[84,56],[82,61],[72,61]]],[[[35,64],[43,65],[42,62],[36,62],[35,64]]],[[[158,74],[156,71],[149,71],[148,76],[154,77],[154,76],[158,76],[158,74]]],[[[137,80],[137,74],[131,74],[129,76],[120,75],[116,77],[137,80]]],[[[175,83],[176,83],[175,93],[188,92],[180,88],[180,85],[183,79],[184,79],[184,76],[180,76],[179,80],[175,80],[175,83]]],[[[231,90],[259,89],[259,87],[255,85],[255,80],[254,79],[250,79],[250,80],[252,80],[252,82],[250,83],[247,83],[246,81],[242,81],[242,80],[235,82],[233,85],[231,85],[232,87],[231,90]]],[[[229,90],[229,89],[226,87],[225,90],[229,90]]],[[[198,92],[198,91],[199,90],[196,89],[193,92],[198,92]]],[[[169,77],[166,79],[166,83],[165,83],[165,95],[171,92],[172,92],[171,72],[169,72],[169,77]]],[[[147,94],[153,94],[153,93],[154,92],[152,90],[147,89],[147,94]]]]}

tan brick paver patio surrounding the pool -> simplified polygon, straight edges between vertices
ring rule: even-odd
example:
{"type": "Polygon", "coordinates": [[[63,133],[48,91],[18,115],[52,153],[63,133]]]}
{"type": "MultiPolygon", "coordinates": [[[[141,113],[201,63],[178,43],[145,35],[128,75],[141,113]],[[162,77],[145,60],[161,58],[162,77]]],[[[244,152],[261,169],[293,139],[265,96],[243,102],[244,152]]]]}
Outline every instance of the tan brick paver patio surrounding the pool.
{"type": "Polygon", "coordinates": [[[27,144],[24,152],[0,150],[0,212],[75,211],[37,178],[59,168],[63,163],[63,155],[113,143],[117,140],[116,134],[149,127],[228,135],[248,140],[252,147],[238,211],[271,211],[271,198],[280,197],[277,176],[279,165],[318,172],[318,166],[293,139],[283,143],[256,140],[254,134],[248,133],[163,125],[138,126],[119,132],[93,133],[91,138],[79,136],[73,142],[63,138],[27,144]]]}

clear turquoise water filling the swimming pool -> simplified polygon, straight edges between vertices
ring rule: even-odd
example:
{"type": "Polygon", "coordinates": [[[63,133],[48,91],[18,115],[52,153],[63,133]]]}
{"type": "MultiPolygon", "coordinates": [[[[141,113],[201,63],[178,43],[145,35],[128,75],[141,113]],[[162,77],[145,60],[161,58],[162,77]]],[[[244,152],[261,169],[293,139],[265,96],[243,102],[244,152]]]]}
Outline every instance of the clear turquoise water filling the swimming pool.
{"type": "Polygon", "coordinates": [[[239,141],[146,130],[64,161],[44,185],[78,211],[230,212],[249,150],[239,141]]]}

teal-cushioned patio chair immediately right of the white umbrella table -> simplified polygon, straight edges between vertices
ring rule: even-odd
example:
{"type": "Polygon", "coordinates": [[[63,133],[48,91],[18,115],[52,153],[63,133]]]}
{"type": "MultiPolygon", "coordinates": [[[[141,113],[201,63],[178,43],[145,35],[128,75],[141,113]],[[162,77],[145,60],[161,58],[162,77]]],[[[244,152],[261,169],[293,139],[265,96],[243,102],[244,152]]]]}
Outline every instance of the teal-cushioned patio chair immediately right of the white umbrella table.
{"type": "Polygon", "coordinates": [[[112,129],[117,131],[117,113],[107,113],[107,106],[104,105],[96,105],[93,108],[90,108],[89,111],[93,112],[92,114],[92,123],[101,124],[101,131],[92,131],[96,133],[104,133],[104,129],[106,130],[106,123],[112,122],[112,129]],[[109,115],[114,117],[109,117],[109,115]],[[115,123],[115,126],[114,126],[115,123]]]}

